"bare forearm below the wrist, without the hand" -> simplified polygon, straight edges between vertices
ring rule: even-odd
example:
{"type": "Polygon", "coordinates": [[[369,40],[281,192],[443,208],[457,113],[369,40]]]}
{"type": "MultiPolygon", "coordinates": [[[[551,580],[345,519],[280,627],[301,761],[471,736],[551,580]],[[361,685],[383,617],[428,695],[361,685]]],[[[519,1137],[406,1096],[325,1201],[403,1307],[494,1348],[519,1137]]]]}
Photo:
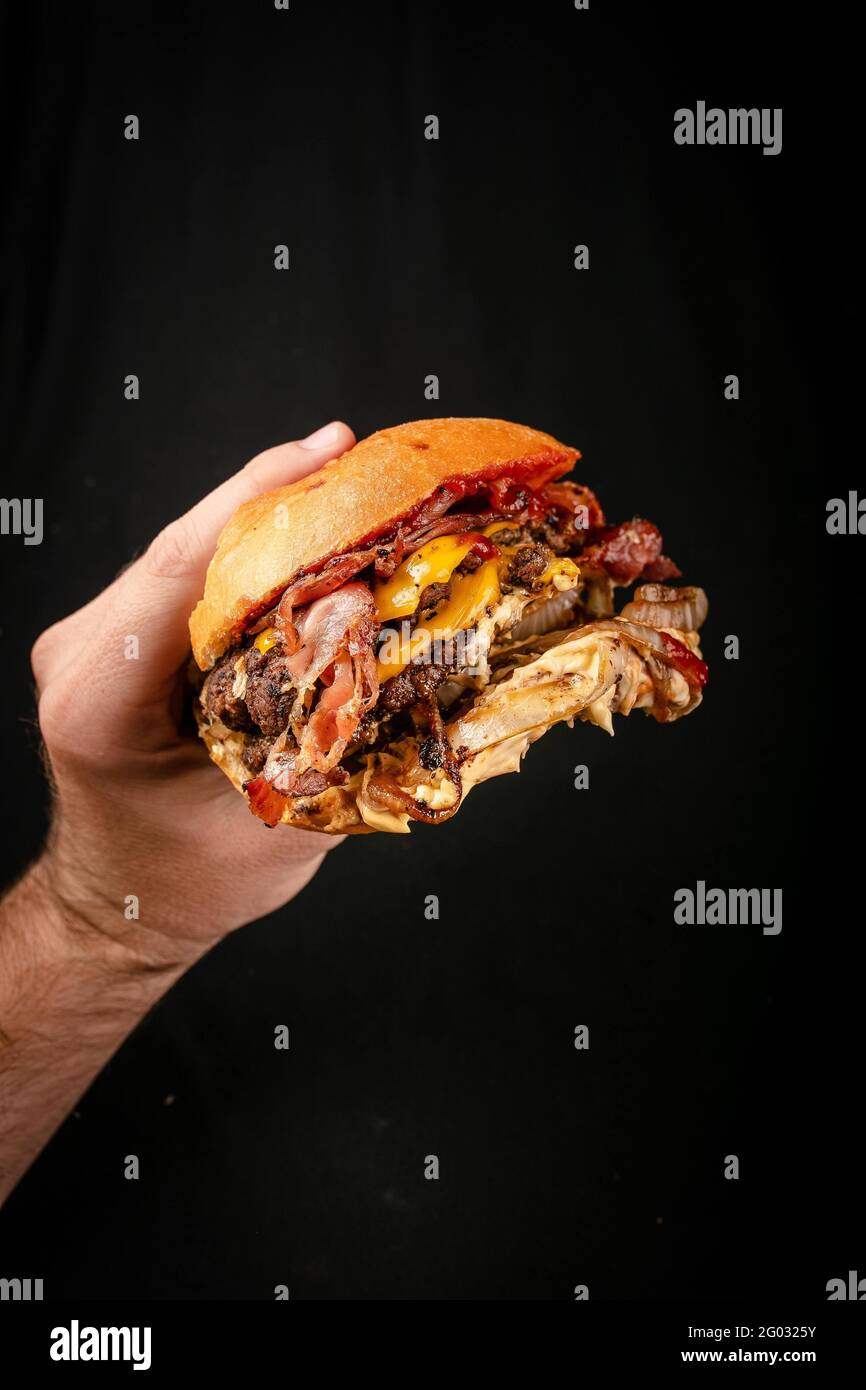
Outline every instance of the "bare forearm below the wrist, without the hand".
{"type": "Polygon", "coordinates": [[[47,860],[0,902],[0,1202],[188,963],[100,933],[47,860]]]}

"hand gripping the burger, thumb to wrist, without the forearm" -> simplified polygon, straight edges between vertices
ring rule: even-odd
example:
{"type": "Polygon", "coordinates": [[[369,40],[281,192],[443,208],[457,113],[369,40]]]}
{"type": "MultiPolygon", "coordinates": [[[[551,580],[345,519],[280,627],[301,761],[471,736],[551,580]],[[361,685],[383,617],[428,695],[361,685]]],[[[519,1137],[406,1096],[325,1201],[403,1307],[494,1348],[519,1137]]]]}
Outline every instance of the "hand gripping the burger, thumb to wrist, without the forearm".
{"type": "Polygon", "coordinates": [[[190,963],[299,892],[336,842],[268,830],[178,721],[188,619],[222,525],[247,498],[314,471],[353,442],[335,423],[259,455],[33,646],[54,784],[40,884],[61,915],[140,960],[190,963]],[[138,659],[125,655],[129,637],[138,659]],[[125,916],[132,897],[138,920],[125,916]]]}

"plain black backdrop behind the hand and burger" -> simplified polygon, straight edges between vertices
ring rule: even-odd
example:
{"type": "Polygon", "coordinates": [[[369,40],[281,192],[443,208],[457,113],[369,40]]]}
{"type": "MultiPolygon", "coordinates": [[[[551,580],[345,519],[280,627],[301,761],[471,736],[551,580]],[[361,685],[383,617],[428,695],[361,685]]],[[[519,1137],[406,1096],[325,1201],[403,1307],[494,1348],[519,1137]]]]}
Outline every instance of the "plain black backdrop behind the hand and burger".
{"type": "Polygon", "coordinates": [[[670,728],[552,731],[455,821],[345,844],[227,940],[21,1183],[0,1272],[129,1298],[822,1298],[866,1273],[840,810],[863,541],[824,531],[863,474],[852,88],[845,36],[790,14],[7,14],[3,492],[46,509],[42,546],[0,541],[7,881],[46,824],[32,639],[334,417],[502,416],[577,445],[610,518],[657,521],[708,589],[712,681],[670,728]],[[784,107],[783,153],[676,146],[698,99],[784,107]],[[781,935],[676,926],[698,878],[781,887],[781,935]]]}

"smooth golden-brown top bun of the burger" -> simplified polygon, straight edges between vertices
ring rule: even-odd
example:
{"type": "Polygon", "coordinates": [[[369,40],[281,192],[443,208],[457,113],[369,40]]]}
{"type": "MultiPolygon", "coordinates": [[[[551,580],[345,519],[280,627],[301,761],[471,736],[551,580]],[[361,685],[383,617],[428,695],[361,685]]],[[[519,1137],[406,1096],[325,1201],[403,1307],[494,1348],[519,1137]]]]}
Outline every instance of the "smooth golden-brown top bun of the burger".
{"type": "Polygon", "coordinates": [[[222,530],[189,620],[197,664],[213,666],[302,571],[395,531],[441,484],[477,478],[481,486],[516,468],[557,478],[578,457],[552,435],[507,420],[413,420],[245,502],[222,530]]]}

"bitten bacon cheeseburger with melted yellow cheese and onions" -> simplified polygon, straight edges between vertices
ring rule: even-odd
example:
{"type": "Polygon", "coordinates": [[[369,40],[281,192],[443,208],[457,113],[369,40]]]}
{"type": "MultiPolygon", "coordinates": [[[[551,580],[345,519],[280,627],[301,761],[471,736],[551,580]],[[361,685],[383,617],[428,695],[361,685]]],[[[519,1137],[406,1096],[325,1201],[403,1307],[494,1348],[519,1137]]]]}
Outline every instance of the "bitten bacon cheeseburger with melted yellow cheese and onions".
{"type": "Polygon", "coordinates": [[[381,430],[245,503],[189,621],[210,756],[267,826],[406,833],[562,720],[701,703],[702,589],[505,420],[381,430]],[[617,612],[617,589],[637,585],[617,612]]]}

